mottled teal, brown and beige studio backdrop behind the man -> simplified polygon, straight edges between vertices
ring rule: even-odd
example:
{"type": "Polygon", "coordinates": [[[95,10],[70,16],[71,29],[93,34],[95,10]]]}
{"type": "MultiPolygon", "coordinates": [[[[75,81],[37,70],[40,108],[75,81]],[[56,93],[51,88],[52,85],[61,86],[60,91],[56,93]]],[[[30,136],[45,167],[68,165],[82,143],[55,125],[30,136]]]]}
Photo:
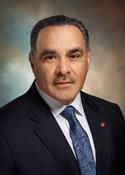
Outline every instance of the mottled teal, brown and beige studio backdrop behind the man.
{"type": "Polygon", "coordinates": [[[4,0],[0,6],[0,107],[28,90],[30,32],[41,18],[79,18],[90,34],[92,62],[84,91],[118,103],[125,114],[125,1],[4,0]]]}

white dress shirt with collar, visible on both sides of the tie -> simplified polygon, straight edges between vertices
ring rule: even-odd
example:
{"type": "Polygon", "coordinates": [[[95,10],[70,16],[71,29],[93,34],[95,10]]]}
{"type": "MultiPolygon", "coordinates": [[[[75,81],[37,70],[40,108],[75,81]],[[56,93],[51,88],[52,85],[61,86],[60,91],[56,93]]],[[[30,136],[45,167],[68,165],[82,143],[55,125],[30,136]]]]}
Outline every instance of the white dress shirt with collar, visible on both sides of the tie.
{"type": "MultiPolygon", "coordinates": [[[[63,116],[60,115],[60,113],[66,108],[66,105],[62,104],[60,101],[55,100],[54,98],[52,98],[52,97],[48,96],[46,93],[44,93],[38,87],[37,83],[36,83],[36,88],[37,88],[40,96],[42,96],[42,98],[49,105],[53,116],[55,117],[59,127],[61,128],[66,140],[68,141],[68,143],[69,143],[69,145],[70,145],[70,147],[71,147],[71,149],[72,149],[72,151],[75,155],[75,151],[74,151],[74,148],[73,148],[73,144],[72,144],[72,140],[71,140],[70,132],[69,132],[70,131],[69,123],[63,116]]],[[[83,106],[82,106],[80,93],[76,96],[76,98],[74,99],[74,101],[70,105],[72,105],[76,109],[76,118],[78,119],[79,123],[81,124],[81,126],[86,131],[86,133],[89,137],[92,152],[93,152],[93,156],[94,156],[94,159],[95,159],[95,162],[96,162],[95,146],[94,146],[92,134],[91,134],[91,131],[90,131],[90,128],[89,128],[89,124],[87,122],[85,112],[84,112],[84,109],[83,109],[83,106]]]]}

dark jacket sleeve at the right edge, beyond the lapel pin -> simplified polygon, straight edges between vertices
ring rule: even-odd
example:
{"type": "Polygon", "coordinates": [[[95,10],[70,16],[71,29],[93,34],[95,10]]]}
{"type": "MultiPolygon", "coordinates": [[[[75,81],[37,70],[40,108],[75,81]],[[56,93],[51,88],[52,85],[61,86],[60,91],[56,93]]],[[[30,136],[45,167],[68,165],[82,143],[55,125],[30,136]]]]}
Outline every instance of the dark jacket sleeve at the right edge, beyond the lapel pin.
{"type": "Polygon", "coordinates": [[[114,157],[116,161],[112,165],[111,175],[125,175],[125,118],[118,105],[116,105],[115,114],[114,157]]]}

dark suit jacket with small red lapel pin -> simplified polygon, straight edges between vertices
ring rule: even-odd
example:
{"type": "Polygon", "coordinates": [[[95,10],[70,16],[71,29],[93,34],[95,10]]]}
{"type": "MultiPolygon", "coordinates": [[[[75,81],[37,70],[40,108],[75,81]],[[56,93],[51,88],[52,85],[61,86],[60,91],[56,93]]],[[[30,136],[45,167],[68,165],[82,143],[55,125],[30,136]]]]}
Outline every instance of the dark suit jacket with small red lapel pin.
{"type": "MultiPolygon", "coordinates": [[[[97,175],[125,175],[125,122],[119,107],[83,92],[81,97],[96,148],[97,175]]],[[[0,175],[80,175],[34,84],[0,109],[0,175]]]]}

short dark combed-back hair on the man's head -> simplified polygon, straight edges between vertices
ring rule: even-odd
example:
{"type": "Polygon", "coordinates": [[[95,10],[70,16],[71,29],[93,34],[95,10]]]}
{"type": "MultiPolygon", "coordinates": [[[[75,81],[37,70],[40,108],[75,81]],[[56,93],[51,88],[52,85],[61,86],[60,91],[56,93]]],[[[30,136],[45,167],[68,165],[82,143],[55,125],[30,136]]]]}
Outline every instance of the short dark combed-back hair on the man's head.
{"type": "Polygon", "coordinates": [[[80,20],[77,20],[75,18],[70,18],[64,15],[57,15],[44,18],[38,21],[36,25],[33,27],[30,36],[31,53],[35,53],[36,51],[38,34],[43,28],[49,26],[62,26],[66,24],[74,25],[79,28],[79,30],[82,32],[84,36],[85,46],[86,48],[89,48],[89,34],[84,24],[80,20]]]}

